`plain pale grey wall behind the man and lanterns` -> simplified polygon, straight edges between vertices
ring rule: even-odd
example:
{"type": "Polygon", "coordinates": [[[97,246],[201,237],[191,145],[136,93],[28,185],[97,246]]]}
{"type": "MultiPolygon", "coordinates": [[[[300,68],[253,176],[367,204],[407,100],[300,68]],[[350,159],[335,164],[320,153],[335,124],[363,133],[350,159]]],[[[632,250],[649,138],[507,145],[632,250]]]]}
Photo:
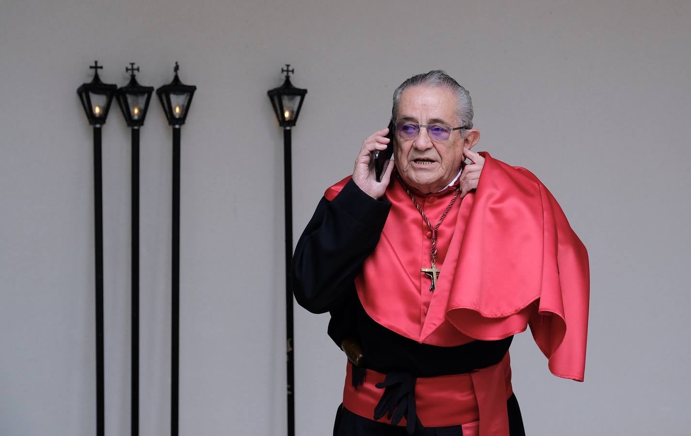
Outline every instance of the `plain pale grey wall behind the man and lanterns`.
{"type": "MultiPolygon", "coordinates": [[[[386,126],[393,89],[443,68],[475,150],[531,169],[591,263],[585,383],[512,350],[529,435],[688,435],[688,1],[0,3],[0,434],[93,435],[92,133],[75,90],[180,77],[180,434],[283,435],[282,132],[266,91],[294,66],[294,239],[386,126]]],[[[106,435],[129,433],[129,131],[103,129],[106,435]]],[[[141,133],[142,435],[169,433],[171,133],[141,133]]],[[[296,429],[330,434],[345,358],[296,307],[296,429]]]]}

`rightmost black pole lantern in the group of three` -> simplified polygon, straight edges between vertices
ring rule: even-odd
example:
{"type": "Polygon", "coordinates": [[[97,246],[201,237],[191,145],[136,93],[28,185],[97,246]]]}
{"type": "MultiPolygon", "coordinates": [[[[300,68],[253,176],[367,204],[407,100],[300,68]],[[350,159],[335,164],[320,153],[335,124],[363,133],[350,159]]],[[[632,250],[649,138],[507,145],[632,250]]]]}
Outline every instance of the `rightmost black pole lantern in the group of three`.
{"type": "Polygon", "coordinates": [[[180,127],[184,124],[196,86],[185,85],[175,63],[173,82],[156,90],[156,95],[173,127],[173,234],[172,234],[172,314],[171,314],[171,436],[178,436],[179,358],[180,358],[180,127]]]}

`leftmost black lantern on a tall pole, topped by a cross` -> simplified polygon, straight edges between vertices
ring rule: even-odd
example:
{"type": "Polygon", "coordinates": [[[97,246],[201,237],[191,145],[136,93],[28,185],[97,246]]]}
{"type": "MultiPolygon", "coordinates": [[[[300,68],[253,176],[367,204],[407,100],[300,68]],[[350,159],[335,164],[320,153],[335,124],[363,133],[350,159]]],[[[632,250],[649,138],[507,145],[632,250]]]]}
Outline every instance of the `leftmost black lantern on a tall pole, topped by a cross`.
{"type": "Polygon", "coordinates": [[[117,85],[104,84],[98,77],[103,66],[94,61],[93,80],[77,88],[88,124],[93,126],[93,189],[95,227],[95,278],[96,278],[96,435],[104,436],[104,359],[103,359],[103,178],[101,163],[101,126],[106,124],[117,85]]]}

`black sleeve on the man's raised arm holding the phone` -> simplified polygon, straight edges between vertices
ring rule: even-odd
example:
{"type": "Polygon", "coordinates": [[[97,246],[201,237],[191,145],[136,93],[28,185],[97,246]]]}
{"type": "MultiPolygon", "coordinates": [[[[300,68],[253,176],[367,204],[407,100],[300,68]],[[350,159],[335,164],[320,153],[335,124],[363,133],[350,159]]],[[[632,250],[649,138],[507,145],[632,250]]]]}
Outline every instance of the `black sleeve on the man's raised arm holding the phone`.
{"type": "Polygon", "coordinates": [[[391,208],[368,196],[352,180],[332,201],[321,198],[298,240],[292,287],[299,305],[312,313],[337,308],[365,258],[379,243],[391,208]]]}

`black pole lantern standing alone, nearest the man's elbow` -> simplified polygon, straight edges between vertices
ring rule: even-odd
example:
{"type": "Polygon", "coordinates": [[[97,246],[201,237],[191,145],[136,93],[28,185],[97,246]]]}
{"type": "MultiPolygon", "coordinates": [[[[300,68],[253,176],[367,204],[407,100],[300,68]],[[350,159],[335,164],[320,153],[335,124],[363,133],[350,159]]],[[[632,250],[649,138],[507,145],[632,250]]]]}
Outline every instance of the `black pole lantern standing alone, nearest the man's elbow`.
{"type": "Polygon", "coordinates": [[[290,286],[290,263],[293,257],[293,189],[291,161],[291,129],[295,126],[306,89],[296,88],[290,83],[290,64],[281,68],[285,73],[283,85],[268,92],[269,99],[276,113],[278,124],[283,127],[283,196],[285,198],[285,330],[287,354],[287,434],[295,435],[295,364],[293,343],[293,292],[290,286]]]}

